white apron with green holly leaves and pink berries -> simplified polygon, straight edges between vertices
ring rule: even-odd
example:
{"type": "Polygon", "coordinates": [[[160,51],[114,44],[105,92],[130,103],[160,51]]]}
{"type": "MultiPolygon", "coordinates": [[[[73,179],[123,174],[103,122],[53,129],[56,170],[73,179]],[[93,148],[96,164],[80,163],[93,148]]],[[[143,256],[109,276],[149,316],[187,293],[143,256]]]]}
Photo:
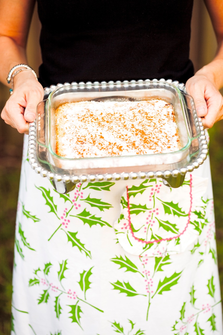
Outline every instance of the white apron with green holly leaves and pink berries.
{"type": "Polygon", "coordinates": [[[209,158],[178,189],[159,178],[58,194],[24,139],[14,335],[223,334],[209,158]]]}

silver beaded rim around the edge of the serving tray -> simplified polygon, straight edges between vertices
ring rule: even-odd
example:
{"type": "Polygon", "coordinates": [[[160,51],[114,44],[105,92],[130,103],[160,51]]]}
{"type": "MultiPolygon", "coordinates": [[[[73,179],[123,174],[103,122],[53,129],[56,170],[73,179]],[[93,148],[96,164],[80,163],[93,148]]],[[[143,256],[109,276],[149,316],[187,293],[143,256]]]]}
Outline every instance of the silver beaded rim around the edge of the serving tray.
{"type": "MultiPolygon", "coordinates": [[[[50,87],[44,88],[44,99],[48,97],[48,95],[53,92],[55,89],[63,87],[63,86],[77,86],[81,87],[83,85],[104,85],[104,84],[128,84],[128,83],[147,83],[147,82],[166,82],[169,84],[173,84],[174,86],[178,87],[180,91],[187,93],[185,89],[185,85],[183,83],[179,83],[178,81],[172,81],[171,79],[165,80],[165,79],[153,79],[153,80],[131,80],[131,81],[102,81],[102,82],[72,82],[68,83],[65,82],[64,84],[57,84],[57,85],[51,85],[50,87]]],[[[195,112],[196,113],[196,112],[195,112]]],[[[197,117],[197,115],[196,115],[197,117]]],[[[78,182],[93,182],[93,181],[117,181],[120,179],[128,180],[128,179],[144,179],[144,178],[163,178],[164,183],[168,185],[168,182],[165,180],[171,177],[177,178],[180,176],[185,176],[187,172],[192,172],[194,169],[197,169],[201,164],[203,164],[204,160],[207,158],[208,155],[208,144],[205,136],[205,130],[202,124],[201,118],[198,118],[199,126],[201,129],[201,135],[198,138],[199,141],[199,147],[200,147],[200,153],[198,157],[193,158],[189,164],[181,169],[178,170],[172,170],[172,171],[149,171],[149,172],[132,172],[132,173],[114,173],[114,174],[98,174],[98,175],[79,175],[79,176],[70,176],[70,175],[58,175],[56,173],[53,173],[46,168],[46,166],[43,166],[42,163],[38,160],[37,154],[36,154],[36,122],[32,122],[29,124],[29,137],[28,137],[28,160],[29,164],[31,165],[31,168],[38,174],[40,174],[42,177],[47,177],[49,180],[53,181],[54,183],[63,182],[65,184],[68,184],[72,182],[73,184],[76,184],[78,182]]]]}

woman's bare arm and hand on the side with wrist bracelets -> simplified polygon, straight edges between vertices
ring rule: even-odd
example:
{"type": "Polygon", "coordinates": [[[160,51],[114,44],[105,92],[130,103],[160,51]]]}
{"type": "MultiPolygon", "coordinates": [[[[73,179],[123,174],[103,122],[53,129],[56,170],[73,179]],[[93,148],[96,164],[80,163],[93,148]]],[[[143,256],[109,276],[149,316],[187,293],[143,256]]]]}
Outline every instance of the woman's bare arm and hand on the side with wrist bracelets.
{"type": "MultiPolygon", "coordinates": [[[[0,80],[7,84],[10,69],[27,64],[26,42],[34,0],[0,0],[0,80]]],[[[10,85],[9,85],[10,86],[10,85]]],[[[43,87],[31,71],[14,77],[13,94],[7,101],[2,119],[20,133],[28,133],[28,122],[36,115],[36,106],[43,98],[43,87]]]]}

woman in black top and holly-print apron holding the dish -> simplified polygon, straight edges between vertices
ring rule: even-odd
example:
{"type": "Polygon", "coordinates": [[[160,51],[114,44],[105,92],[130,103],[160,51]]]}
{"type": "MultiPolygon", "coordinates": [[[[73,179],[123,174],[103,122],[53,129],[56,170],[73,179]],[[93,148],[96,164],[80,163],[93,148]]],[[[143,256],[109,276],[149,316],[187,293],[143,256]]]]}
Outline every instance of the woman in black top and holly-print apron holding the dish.
{"type": "MultiPolygon", "coordinates": [[[[187,81],[198,115],[206,128],[212,127],[223,118],[218,91],[223,85],[223,8],[220,0],[206,1],[218,52],[193,75],[188,58],[192,5],[188,0],[165,5],[163,1],[39,0],[40,79],[36,81],[31,71],[14,76],[13,94],[2,118],[27,134],[36,105],[43,99],[43,86],[164,77],[187,81]]],[[[32,0],[1,0],[3,83],[12,67],[27,64],[33,6],[32,0]]],[[[12,332],[223,334],[208,160],[188,174],[179,189],[170,190],[158,179],[128,188],[125,181],[102,182],[78,184],[69,196],[60,196],[27,165],[27,137],[24,143],[12,332]],[[146,220],[154,221],[148,223],[153,232],[153,223],[157,227],[153,243],[144,246],[131,240],[129,229],[124,229],[128,199],[131,208],[138,206],[139,212],[131,214],[136,224],[137,215],[144,213],[141,205],[146,220]],[[162,223],[158,226],[158,222],[162,223]],[[170,229],[164,223],[172,224],[171,241],[164,241],[170,229]],[[185,234],[176,238],[187,224],[185,234]],[[159,238],[162,241],[156,243],[159,238]]]]}

